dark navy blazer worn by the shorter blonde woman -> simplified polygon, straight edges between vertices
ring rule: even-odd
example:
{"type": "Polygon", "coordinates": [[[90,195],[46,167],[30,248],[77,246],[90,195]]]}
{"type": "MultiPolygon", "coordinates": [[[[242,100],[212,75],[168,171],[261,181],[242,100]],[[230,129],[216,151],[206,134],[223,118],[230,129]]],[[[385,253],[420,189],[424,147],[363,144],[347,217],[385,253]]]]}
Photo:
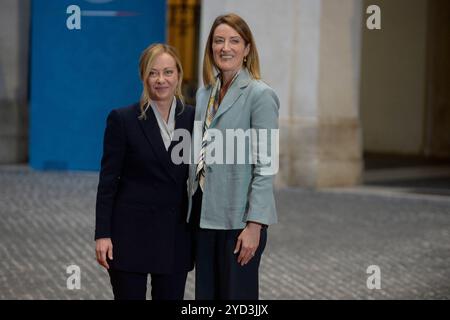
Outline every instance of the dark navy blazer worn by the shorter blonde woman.
{"type": "MultiPolygon", "coordinates": [[[[104,135],[95,239],[111,238],[116,270],[173,273],[193,268],[186,224],[188,164],[176,165],[164,147],[152,110],[139,104],[112,110],[104,135]]],[[[177,101],[175,129],[192,132],[194,108],[177,101]]],[[[182,141],[180,141],[182,142],[182,141]]],[[[184,142],[186,143],[186,142],[184,142]]]]}

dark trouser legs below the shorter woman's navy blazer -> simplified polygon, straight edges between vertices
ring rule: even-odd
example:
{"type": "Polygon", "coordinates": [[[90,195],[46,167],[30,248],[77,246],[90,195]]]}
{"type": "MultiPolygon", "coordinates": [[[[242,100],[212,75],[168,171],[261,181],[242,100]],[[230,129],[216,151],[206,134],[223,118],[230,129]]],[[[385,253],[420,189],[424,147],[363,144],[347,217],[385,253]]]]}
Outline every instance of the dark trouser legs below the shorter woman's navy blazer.
{"type": "MultiPolygon", "coordinates": [[[[147,273],[108,270],[114,300],[145,300],[147,273]]],[[[150,274],[152,300],[183,300],[187,272],[150,274]]]]}

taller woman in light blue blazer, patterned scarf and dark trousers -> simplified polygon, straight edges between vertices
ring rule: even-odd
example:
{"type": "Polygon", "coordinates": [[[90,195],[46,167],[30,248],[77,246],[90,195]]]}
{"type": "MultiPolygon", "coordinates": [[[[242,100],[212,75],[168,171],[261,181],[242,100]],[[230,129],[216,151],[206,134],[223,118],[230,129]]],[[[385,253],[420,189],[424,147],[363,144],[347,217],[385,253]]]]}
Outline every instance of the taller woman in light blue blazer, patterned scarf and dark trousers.
{"type": "Polygon", "coordinates": [[[267,226],[277,222],[279,100],[260,80],[247,23],[219,16],[206,43],[197,92],[188,221],[195,226],[196,299],[259,296],[267,226]]]}

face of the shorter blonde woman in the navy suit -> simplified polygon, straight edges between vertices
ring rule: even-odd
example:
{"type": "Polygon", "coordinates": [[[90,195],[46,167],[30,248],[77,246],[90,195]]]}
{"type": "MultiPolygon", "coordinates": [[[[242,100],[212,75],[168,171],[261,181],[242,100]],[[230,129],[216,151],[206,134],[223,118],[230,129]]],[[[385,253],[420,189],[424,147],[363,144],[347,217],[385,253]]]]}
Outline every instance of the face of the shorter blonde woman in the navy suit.
{"type": "Polygon", "coordinates": [[[164,52],[155,58],[147,83],[153,101],[172,101],[178,85],[178,69],[170,54],[164,52]]]}

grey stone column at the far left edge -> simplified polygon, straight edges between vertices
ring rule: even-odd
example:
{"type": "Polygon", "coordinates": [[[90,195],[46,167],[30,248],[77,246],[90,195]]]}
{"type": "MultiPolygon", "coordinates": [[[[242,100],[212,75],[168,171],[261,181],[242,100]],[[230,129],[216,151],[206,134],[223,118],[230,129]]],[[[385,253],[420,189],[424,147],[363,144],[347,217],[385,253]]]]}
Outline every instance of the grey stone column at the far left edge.
{"type": "Polygon", "coordinates": [[[0,163],[27,160],[29,5],[0,4],[0,163]]]}

